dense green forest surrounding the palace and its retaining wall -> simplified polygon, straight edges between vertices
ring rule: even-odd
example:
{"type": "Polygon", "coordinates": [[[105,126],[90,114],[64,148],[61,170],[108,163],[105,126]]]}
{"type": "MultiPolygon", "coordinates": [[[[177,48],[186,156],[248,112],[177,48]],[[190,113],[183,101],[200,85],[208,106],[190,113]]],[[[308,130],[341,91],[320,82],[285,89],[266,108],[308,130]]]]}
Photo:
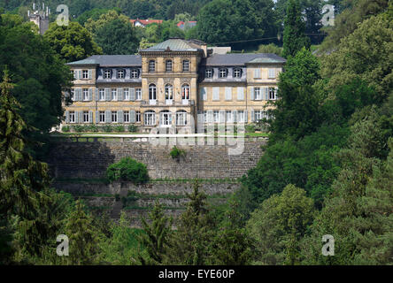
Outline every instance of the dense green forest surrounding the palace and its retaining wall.
{"type": "MultiPolygon", "coordinates": [[[[114,6],[72,2],[77,16],[114,6]]],[[[2,2],[11,12],[0,17],[1,264],[393,264],[393,4],[388,0],[334,1],[339,14],[335,27],[324,29],[319,56],[312,52],[303,16],[304,4],[313,1],[277,2],[282,6],[274,11],[281,14],[269,22],[274,28],[282,24],[282,48],[259,49],[287,58],[280,99],[270,119],[258,122],[269,132],[264,156],[227,203],[210,205],[196,180],[175,230],[159,203],[143,219],[143,229],[135,230],[125,214],[113,223],[51,188],[48,166],[40,160],[50,127],[63,116],[61,89],[73,80],[64,63],[108,50],[104,36],[119,36],[112,29],[130,31],[127,41],[134,45],[124,53],[149,44],[128,26],[127,17],[173,20],[187,12],[226,30],[218,23],[228,9],[250,17],[252,23],[244,23],[250,30],[214,37],[202,25],[196,34],[206,28],[212,36],[207,42],[277,34],[264,24],[271,19],[267,14],[252,15],[272,1],[206,2],[116,1],[120,11],[98,11],[96,18],[74,20],[69,27],[52,25],[44,36],[15,11],[27,1],[2,2]],[[129,3],[154,9],[136,13],[129,3]],[[70,256],[56,255],[58,234],[70,238],[70,256]],[[335,256],[320,252],[326,234],[335,236],[335,256]]],[[[243,21],[232,18],[228,27],[243,21]]],[[[165,29],[159,33],[149,36],[171,35],[165,29]]],[[[107,53],[112,51],[118,52],[107,53]]]]}

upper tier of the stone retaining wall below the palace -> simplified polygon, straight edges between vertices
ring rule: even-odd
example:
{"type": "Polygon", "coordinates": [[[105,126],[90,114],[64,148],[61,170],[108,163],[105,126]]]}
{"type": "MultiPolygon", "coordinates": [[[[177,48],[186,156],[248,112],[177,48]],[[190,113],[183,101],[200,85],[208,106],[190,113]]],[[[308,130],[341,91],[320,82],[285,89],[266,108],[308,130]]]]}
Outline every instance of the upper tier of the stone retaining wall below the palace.
{"type": "MultiPolygon", "coordinates": [[[[179,161],[170,157],[173,146],[150,142],[53,142],[48,164],[60,179],[102,178],[108,165],[132,157],[147,165],[151,179],[238,178],[255,167],[265,142],[245,142],[243,154],[228,155],[227,145],[178,146],[185,150],[179,161]]],[[[231,147],[235,148],[235,146],[231,147]]]]}

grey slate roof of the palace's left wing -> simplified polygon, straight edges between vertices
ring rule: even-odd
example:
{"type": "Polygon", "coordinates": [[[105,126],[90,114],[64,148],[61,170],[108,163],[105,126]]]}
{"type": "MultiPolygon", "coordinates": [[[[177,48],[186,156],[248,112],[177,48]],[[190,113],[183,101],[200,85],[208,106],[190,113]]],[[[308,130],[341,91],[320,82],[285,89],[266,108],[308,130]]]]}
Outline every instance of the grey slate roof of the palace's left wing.
{"type": "Polygon", "coordinates": [[[140,55],[93,55],[68,65],[100,65],[101,67],[142,66],[140,55]]]}

